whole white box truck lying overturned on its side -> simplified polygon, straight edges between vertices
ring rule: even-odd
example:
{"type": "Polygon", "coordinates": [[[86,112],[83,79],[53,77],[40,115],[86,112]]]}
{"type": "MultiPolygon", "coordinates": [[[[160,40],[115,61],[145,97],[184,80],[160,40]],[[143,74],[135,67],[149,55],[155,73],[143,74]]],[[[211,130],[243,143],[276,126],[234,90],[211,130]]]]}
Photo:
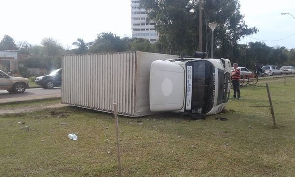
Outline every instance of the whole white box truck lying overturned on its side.
{"type": "Polygon", "coordinates": [[[148,52],[65,55],[62,103],[139,117],[163,111],[216,114],[229,99],[228,59],[148,52]]]}

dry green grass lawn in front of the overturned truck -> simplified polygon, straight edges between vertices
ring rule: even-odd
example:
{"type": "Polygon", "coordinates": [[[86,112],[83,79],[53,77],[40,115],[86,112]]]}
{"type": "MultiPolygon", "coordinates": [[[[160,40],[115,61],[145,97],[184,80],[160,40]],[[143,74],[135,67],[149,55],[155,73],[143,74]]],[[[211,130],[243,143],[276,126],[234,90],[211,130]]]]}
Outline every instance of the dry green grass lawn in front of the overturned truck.
{"type": "MultiPolygon", "coordinates": [[[[260,80],[255,88],[242,87],[241,100],[230,101],[225,113],[206,120],[192,121],[173,113],[118,116],[122,175],[294,176],[295,77],[286,83],[284,79],[260,80]]],[[[0,115],[0,135],[0,176],[117,176],[112,114],[68,106],[0,115]],[[69,133],[78,134],[79,139],[68,139],[69,133]]]]}

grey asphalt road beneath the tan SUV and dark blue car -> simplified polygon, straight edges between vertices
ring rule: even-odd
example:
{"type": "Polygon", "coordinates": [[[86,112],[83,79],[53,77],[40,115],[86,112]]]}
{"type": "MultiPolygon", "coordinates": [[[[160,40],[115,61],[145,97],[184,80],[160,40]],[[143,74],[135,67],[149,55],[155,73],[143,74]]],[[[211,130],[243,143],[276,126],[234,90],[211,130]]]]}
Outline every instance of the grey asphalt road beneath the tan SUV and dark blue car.
{"type": "Polygon", "coordinates": [[[0,91],[0,103],[8,103],[15,101],[27,101],[35,99],[45,99],[45,98],[58,98],[61,97],[61,87],[53,89],[44,88],[32,88],[26,89],[24,93],[11,94],[6,90],[0,91]]]}

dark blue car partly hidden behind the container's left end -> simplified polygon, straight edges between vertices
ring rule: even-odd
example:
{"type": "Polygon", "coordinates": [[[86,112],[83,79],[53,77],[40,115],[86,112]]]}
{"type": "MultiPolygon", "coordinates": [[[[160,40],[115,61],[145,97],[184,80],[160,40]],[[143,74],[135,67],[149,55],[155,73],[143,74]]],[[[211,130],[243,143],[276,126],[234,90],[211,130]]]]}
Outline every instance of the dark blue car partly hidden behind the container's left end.
{"type": "Polygon", "coordinates": [[[62,69],[52,71],[49,75],[37,77],[35,82],[43,88],[52,89],[61,86],[62,69]]]}

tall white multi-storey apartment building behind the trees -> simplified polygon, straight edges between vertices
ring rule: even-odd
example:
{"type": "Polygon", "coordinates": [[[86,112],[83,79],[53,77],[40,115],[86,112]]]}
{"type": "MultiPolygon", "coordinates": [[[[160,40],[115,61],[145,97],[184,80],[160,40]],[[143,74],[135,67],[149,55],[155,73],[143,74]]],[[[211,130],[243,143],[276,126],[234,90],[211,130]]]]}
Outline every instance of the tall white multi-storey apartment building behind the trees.
{"type": "Polygon", "coordinates": [[[148,12],[139,7],[139,0],[131,0],[131,29],[132,37],[145,38],[151,43],[159,40],[159,35],[155,30],[155,22],[147,22],[148,12]]]}

